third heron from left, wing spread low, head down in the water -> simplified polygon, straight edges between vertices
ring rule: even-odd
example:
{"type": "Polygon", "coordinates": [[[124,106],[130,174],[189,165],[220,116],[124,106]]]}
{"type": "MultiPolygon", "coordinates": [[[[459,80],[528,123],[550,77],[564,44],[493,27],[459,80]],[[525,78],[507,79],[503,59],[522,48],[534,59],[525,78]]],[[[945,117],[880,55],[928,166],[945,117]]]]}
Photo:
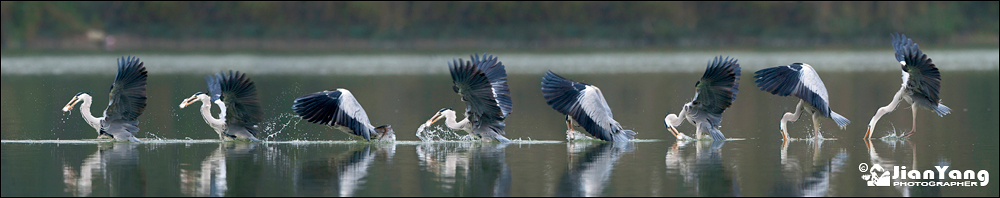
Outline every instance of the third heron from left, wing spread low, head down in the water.
{"type": "Polygon", "coordinates": [[[324,124],[365,141],[395,141],[396,134],[389,125],[372,126],[368,113],[347,89],[338,88],[303,95],[292,105],[302,119],[324,124]]]}

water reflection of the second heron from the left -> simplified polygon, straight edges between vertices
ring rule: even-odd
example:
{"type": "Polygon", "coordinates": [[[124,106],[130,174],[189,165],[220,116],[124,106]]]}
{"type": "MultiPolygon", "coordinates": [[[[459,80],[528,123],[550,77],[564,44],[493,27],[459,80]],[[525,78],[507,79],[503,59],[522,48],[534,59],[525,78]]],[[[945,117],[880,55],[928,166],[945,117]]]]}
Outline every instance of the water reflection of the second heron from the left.
{"type": "Polygon", "coordinates": [[[226,155],[249,154],[257,144],[223,142],[205,160],[197,170],[180,169],[181,192],[196,197],[221,197],[229,189],[226,183],[226,155]]]}

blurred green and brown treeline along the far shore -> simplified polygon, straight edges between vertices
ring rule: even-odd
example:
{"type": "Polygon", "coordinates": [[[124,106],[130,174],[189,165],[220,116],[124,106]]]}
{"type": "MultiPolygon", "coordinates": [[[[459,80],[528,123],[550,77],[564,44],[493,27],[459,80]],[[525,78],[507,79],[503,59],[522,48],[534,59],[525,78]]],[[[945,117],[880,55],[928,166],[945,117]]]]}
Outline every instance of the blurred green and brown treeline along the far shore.
{"type": "Polygon", "coordinates": [[[988,2],[22,2],[3,1],[2,42],[108,35],[160,39],[560,39],[678,45],[884,44],[889,33],[920,43],[993,44],[988,2]],[[867,40],[866,40],[867,39],[867,40]],[[749,40],[749,41],[747,41],[749,40]],[[959,40],[959,41],[956,41],[959,40]],[[965,39],[968,40],[968,39],[965,39]],[[716,42],[718,41],[718,42],[716,42]],[[982,42],[980,42],[982,43],[982,42]]]}

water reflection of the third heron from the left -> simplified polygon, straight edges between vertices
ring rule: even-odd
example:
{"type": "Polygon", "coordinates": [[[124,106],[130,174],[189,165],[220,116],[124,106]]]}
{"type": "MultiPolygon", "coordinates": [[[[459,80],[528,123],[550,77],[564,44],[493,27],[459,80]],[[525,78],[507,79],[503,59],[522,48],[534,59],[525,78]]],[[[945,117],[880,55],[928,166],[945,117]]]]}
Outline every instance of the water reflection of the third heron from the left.
{"type": "Polygon", "coordinates": [[[357,192],[367,182],[368,170],[376,164],[376,158],[391,162],[395,154],[395,143],[367,144],[348,152],[338,152],[335,157],[325,160],[308,161],[296,170],[295,186],[305,196],[358,196],[357,192]]]}

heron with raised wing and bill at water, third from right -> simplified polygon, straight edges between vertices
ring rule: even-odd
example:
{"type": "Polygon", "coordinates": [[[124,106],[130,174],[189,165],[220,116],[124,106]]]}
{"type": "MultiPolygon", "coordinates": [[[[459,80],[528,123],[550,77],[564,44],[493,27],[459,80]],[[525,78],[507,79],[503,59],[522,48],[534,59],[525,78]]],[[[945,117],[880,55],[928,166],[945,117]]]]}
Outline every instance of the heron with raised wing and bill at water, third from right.
{"type": "Polygon", "coordinates": [[[664,125],[674,137],[678,140],[688,138],[675,128],[687,119],[697,127],[695,138],[700,140],[702,131],[708,131],[712,140],[726,140],[726,136],[718,128],[722,122],[722,112],[736,101],[736,93],[739,92],[740,83],[736,81],[740,80],[740,64],[736,61],[718,56],[708,63],[705,74],[694,84],[694,99],[684,104],[677,115],[669,114],[663,119],[664,125]]]}

